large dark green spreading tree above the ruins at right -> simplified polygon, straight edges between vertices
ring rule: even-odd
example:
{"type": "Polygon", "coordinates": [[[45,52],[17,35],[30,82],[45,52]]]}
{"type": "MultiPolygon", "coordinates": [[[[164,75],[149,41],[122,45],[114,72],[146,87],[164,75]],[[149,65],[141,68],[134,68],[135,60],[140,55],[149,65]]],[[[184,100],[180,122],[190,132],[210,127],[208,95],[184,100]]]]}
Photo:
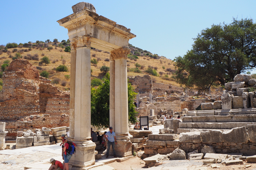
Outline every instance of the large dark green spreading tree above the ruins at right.
{"type": "Polygon", "coordinates": [[[212,25],[198,34],[192,49],[175,58],[176,81],[200,92],[233,81],[256,66],[256,24],[252,19],[212,25]]]}

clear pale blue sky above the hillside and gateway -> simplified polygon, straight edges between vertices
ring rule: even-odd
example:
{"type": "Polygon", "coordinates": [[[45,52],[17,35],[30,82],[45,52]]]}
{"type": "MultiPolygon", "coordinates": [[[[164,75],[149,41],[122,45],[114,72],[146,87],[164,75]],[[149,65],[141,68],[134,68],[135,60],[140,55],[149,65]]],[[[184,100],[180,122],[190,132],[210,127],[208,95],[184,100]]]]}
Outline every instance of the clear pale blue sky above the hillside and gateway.
{"type": "MultiPolygon", "coordinates": [[[[81,0],[1,1],[0,45],[58,39],[67,40],[67,29],[56,22],[73,13],[81,0]]],[[[169,59],[191,49],[193,38],[212,24],[237,19],[256,20],[256,1],[249,0],[87,0],[96,12],[131,29],[129,42],[169,59]]]]}

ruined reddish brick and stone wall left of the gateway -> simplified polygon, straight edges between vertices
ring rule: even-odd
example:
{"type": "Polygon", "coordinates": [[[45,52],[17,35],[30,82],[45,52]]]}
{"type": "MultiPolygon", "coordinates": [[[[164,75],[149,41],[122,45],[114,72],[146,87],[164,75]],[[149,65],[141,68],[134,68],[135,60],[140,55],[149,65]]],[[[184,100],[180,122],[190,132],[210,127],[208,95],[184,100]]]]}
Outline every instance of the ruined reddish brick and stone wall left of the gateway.
{"type": "Polygon", "coordinates": [[[3,72],[0,121],[6,122],[6,139],[17,131],[69,126],[69,93],[50,84],[27,60],[15,59],[3,72]]]}

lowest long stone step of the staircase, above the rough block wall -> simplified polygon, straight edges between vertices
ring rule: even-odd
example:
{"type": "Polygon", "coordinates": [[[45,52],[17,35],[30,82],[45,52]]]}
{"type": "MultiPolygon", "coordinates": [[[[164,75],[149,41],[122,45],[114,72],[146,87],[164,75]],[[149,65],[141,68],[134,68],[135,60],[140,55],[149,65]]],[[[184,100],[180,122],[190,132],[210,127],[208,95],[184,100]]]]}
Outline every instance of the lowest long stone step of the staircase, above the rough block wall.
{"type": "Polygon", "coordinates": [[[232,129],[247,125],[256,124],[256,122],[226,122],[226,123],[179,123],[179,128],[194,129],[232,129]]]}

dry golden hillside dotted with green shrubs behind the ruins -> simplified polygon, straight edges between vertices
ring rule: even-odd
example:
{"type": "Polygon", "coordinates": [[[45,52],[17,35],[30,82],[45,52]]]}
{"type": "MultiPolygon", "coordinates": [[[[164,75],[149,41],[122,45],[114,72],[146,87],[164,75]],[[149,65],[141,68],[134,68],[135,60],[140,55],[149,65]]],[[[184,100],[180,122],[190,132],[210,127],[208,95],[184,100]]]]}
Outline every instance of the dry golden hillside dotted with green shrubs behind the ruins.
{"type": "MultiPolygon", "coordinates": [[[[11,62],[15,56],[28,59],[30,63],[37,67],[39,73],[42,71],[49,72],[48,79],[52,80],[53,85],[57,86],[60,90],[69,90],[70,80],[68,76],[64,75],[70,75],[70,53],[65,52],[65,47],[60,45],[60,43],[58,43],[58,45],[48,43],[49,46],[53,47],[53,49],[50,51],[42,45],[42,47],[40,47],[39,43],[33,43],[32,45],[33,46],[29,48],[23,47],[21,44],[19,44],[18,47],[8,49],[6,49],[3,45],[0,46],[0,49],[2,48],[0,50],[0,65],[2,66],[4,63],[8,63],[7,60],[11,62]],[[40,59],[44,56],[47,56],[50,59],[49,64],[45,65],[44,63],[40,63],[40,59]],[[63,64],[67,66],[68,72],[59,72],[55,70],[59,65],[63,64]]],[[[127,59],[128,76],[152,74],[153,72],[154,75],[157,75],[151,75],[153,82],[179,86],[177,83],[175,83],[173,76],[175,71],[174,61],[163,56],[158,56],[157,54],[152,54],[147,50],[142,50],[138,47],[132,46],[131,44],[129,44],[129,48],[131,49],[131,53],[128,54],[127,59]]],[[[91,49],[91,59],[96,59],[98,61],[98,63],[95,65],[91,64],[92,79],[95,77],[102,77],[102,74],[100,74],[100,68],[103,65],[108,67],[110,66],[109,55],[110,54],[106,51],[94,48],[91,49]]]]}

